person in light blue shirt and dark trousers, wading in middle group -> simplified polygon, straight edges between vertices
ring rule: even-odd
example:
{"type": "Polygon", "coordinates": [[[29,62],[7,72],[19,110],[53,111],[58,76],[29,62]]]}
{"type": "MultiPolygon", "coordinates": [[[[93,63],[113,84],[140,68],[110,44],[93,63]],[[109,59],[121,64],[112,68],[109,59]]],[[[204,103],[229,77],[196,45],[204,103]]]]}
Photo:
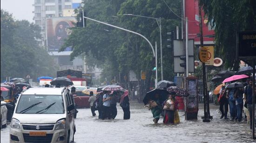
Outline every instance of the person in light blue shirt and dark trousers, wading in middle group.
{"type": "Polygon", "coordinates": [[[109,95],[109,91],[105,91],[104,95],[103,95],[103,112],[102,112],[102,120],[104,120],[105,118],[111,119],[110,116],[110,100],[111,97],[109,95]]]}

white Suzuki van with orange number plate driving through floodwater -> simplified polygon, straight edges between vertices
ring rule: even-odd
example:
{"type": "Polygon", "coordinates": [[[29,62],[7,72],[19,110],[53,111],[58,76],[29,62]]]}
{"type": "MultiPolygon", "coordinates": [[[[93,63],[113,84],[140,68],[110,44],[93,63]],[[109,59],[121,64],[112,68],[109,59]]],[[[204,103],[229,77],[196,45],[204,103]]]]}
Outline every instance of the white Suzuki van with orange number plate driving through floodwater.
{"type": "Polygon", "coordinates": [[[11,125],[10,143],[74,142],[71,102],[64,88],[28,88],[20,94],[11,125]]]}

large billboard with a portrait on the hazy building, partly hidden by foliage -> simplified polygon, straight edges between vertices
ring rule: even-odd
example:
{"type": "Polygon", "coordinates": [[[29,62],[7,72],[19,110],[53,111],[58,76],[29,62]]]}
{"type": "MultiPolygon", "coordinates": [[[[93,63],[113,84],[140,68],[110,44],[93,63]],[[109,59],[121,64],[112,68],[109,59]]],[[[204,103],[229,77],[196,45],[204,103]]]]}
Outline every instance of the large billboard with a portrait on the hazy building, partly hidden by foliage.
{"type": "MultiPolygon", "coordinates": [[[[74,17],[47,18],[47,51],[59,51],[64,44],[64,40],[71,34],[71,27],[74,27],[76,19],[74,17]]],[[[71,47],[67,47],[65,51],[71,51],[71,47]]]]}

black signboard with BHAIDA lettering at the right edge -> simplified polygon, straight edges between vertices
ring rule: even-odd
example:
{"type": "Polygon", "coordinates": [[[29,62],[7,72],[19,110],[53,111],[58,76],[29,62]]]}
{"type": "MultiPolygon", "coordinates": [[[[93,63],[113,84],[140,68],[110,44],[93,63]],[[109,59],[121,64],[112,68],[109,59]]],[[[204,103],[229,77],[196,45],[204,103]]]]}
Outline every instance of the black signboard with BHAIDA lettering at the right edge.
{"type": "Polygon", "coordinates": [[[237,59],[256,59],[256,31],[240,31],[236,35],[237,59]]]}

